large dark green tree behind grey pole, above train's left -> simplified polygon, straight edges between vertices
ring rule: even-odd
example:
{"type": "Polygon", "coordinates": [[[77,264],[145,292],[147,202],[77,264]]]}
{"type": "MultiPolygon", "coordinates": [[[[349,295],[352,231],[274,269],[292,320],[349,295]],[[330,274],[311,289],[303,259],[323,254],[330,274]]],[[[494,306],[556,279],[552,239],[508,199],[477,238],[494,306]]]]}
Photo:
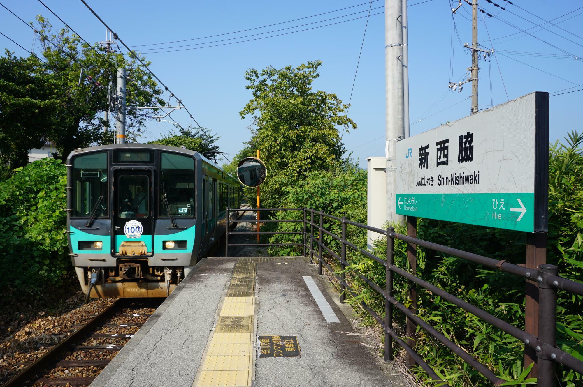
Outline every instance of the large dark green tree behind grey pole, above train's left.
{"type": "Polygon", "coordinates": [[[39,57],[46,63],[35,57],[15,58],[9,52],[0,58],[0,140],[12,147],[1,149],[3,165],[24,166],[27,149],[45,140],[54,143],[55,156],[61,160],[78,147],[113,143],[113,130],[103,130],[103,112],[108,108],[108,83],[115,88],[117,68],[127,69],[128,139],[135,141],[145,120],[157,110],[131,107],[165,105],[159,98],[163,91],[152,76],[131,53],[128,59],[97,43],[90,47],[68,29],[54,33],[43,16],[37,15],[36,20],[39,57]],[[100,85],[79,85],[81,68],[100,85]]]}

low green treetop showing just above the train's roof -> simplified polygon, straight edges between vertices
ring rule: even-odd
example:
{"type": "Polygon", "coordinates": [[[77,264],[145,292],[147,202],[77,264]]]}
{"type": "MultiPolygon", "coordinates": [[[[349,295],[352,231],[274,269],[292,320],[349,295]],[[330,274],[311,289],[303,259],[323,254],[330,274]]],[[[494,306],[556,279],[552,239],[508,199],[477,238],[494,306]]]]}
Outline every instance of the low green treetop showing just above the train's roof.
{"type": "Polygon", "coordinates": [[[208,128],[178,128],[178,133],[170,132],[170,135],[160,139],[149,141],[149,144],[182,147],[201,153],[205,157],[214,158],[220,153],[219,147],[215,145],[220,137],[213,135],[208,128]]]}

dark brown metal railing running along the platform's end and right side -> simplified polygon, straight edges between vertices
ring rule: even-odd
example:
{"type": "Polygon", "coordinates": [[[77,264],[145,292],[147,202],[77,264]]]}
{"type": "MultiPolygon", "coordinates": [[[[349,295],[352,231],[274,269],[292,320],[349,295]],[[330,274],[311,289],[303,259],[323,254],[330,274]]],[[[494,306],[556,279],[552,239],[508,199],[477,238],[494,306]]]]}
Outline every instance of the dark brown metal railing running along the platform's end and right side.
{"type": "MultiPolygon", "coordinates": [[[[263,211],[264,209],[261,209],[263,211]]],[[[272,220],[280,222],[302,222],[303,231],[287,231],[287,232],[273,232],[266,234],[303,234],[304,238],[303,244],[298,243],[287,243],[287,244],[261,244],[264,246],[303,246],[303,254],[305,256],[306,251],[310,254],[310,261],[314,262],[314,257],[318,262],[318,274],[322,274],[322,268],[325,267],[329,272],[334,275],[340,283],[340,302],[345,301],[345,293],[348,292],[353,296],[358,294],[351,290],[350,284],[346,282],[346,266],[349,263],[346,262],[346,248],[349,247],[354,251],[360,252],[361,254],[373,259],[374,261],[385,266],[385,289],[375,284],[372,280],[368,279],[366,276],[360,273],[354,273],[356,277],[364,280],[372,289],[377,291],[385,300],[385,316],[381,318],[369,305],[364,301],[360,301],[360,305],[366,309],[366,311],[377,321],[383,328],[385,334],[385,361],[391,361],[393,357],[393,340],[399,344],[405,351],[409,354],[412,361],[415,361],[420,367],[423,368],[433,378],[434,381],[440,380],[440,377],[433,371],[433,369],[428,365],[420,356],[415,352],[413,346],[415,344],[412,337],[401,337],[392,329],[392,309],[396,307],[401,311],[409,323],[416,324],[425,330],[429,335],[435,337],[439,342],[444,344],[449,350],[462,358],[463,361],[468,363],[476,371],[480,372],[486,379],[492,382],[494,385],[500,385],[505,382],[503,379],[498,378],[493,371],[491,371],[486,365],[480,363],[471,354],[466,352],[461,346],[452,342],[445,335],[440,333],[437,329],[433,328],[429,323],[420,318],[416,314],[415,308],[408,308],[398,300],[393,297],[393,275],[394,273],[399,276],[404,277],[410,284],[416,284],[423,287],[426,290],[431,291],[431,293],[439,295],[444,300],[451,302],[452,304],[458,306],[459,308],[469,312],[490,323],[496,328],[501,329],[503,332],[508,333],[512,337],[521,340],[525,344],[525,351],[527,349],[532,349],[536,351],[536,378],[537,385],[539,387],[553,387],[554,378],[556,377],[555,365],[557,363],[562,364],[579,374],[583,374],[583,361],[571,356],[571,354],[557,348],[556,343],[556,331],[557,331],[557,290],[567,291],[569,293],[583,295],[583,284],[574,282],[557,275],[559,268],[554,265],[543,264],[539,266],[539,269],[525,268],[524,266],[515,265],[505,260],[498,260],[493,258],[488,258],[487,256],[473,254],[467,251],[462,251],[459,249],[447,247],[444,245],[436,244],[429,241],[420,240],[416,237],[402,235],[395,233],[395,229],[392,227],[387,228],[387,230],[382,230],[381,228],[367,226],[366,224],[360,224],[353,221],[349,221],[346,217],[336,217],[326,214],[322,211],[312,210],[312,209],[266,209],[268,211],[303,211],[303,220],[272,220]],[[310,214],[310,219],[308,219],[308,213],[310,214]],[[326,230],[324,227],[324,219],[333,219],[340,221],[342,225],[342,233],[340,237],[326,230]],[[315,222],[318,220],[318,223],[315,222]],[[310,226],[310,230],[307,230],[307,226],[310,226]],[[387,237],[387,257],[380,258],[366,249],[362,249],[350,241],[347,240],[346,227],[356,226],[364,228],[365,230],[373,231],[387,237]],[[318,231],[317,235],[314,230],[318,231]],[[328,235],[333,240],[340,242],[340,255],[332,251],[331,248],[326,246],[324,243],[324,235],[328,235]],[[463,301],[455,295],[447,293],[446,291],[434,286],[433,284],[426,282],[419,277],[409,273],[406,270],[398,268],[394,263],[394,246],[395,239],[402,240],[408,243],[408,254],[410,251],[415,251],[416,246],[421,246],[427,249],[431,249],[438,252],[443,252],[445,254],[457,256],[458,258],[465,259],[466,261],[478,263],[483,266],[498,270],[500,272],[509,273],[511,275],[519,276],[529,281],[536,281],[538,285],[538,336],[532,333],[525,332],[522,329],[516,328],[514,325],[497,318],[494,315],[480,309],[469,302],[463,301]],[[318,249],[314,248],[317,245],[318,249]],[[339,265],[340,270],[338,272],[333,270],[331,266],[326,263],[324,259],[324,252],[335,259],[339,265]]],[[[260,220],[261,223],[267,220],[260,220]]],[[[241,221],[231,221],[231,223],[241,223],[241,221]]],[[[257,220],[245,221],[250,223],[256,223],[257,220]]],[[[231,233],[229,232],[229,226],[227,223],[227,237],[233,234],[257,234],[253,232],[247,233],[231,233]]],[[[236,246],[240,244],[229,244],[228,239],[226,242],[226,247],[236,246]]],[[[413,285],[414,286],[414,285],[413,285]]],[[[410,293],[413,296],[413,305],[415,305],[416,293],[410,293]]],[[[413,330],[415,332],[415,330],[413,330]]],[[[445,385],[445,384],[442,384],[445,385]]]]}

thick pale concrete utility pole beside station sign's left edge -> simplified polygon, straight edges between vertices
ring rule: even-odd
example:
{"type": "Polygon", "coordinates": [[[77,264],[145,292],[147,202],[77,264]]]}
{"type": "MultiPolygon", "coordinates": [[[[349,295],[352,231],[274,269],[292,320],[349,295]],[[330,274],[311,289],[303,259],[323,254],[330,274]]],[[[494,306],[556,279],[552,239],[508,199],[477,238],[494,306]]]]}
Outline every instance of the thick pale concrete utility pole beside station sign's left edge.
{"type": "Polygon", "coordinates": [[[397,215],[396,145],[405,137],[403,115],[403,24],[402,2],[385,0],[385,134],[387,157],[387,221],[404,224],[405,218],[397,215]]]}

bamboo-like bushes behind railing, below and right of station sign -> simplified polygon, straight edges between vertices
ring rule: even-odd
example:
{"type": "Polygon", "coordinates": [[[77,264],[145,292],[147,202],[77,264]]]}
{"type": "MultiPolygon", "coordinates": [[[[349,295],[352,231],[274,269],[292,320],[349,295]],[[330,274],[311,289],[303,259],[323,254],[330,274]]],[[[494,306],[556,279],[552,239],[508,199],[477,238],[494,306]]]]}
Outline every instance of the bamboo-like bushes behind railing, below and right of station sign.
{"type": "MultiPolygon", "coordinates": [[[[559,266],[561,276],[582,282],[583,268],[583,135],[571,133],[566,144],[555,143],[549,153],[549,234],[547,238],[547,262],[559,266]]],[[[399,232],[399,231],[398,231],[399,232]]],[[[401,233],[404,233],[402,230],[401,233]]],[[[419,219],[419,238],[438,244],[450,245],[462,250],[506,259],[512,263],[524,263],[526,238],[518,233],[497,228],[484,228],[467,224],[419,219]]],[[[375,254],[384,256],[386,240],[376,244],[375,254]]],[[[395,264],[407,269],[405,244],[395,241],[395,264]]],[[[371,259],[361,257],[350,268],[363,273],[384,286],[384,268],[371,259]]],[[[454,294],[470,304],[479,306],[490,314],[524,329],[524,281],[465,261],[427,249],[417,249],[417,275],[437,287],[454,294]]],[[[374,308],[382,312],[382,299],[359,278],[352,278],[359,300],[377,303],[374,308]]],[[[408,284],[395,276],[395,298],[405,305],[408,284]]],[[[437,330],[462,346],[480,363],[503,378],[518,379],[522,373],[524,344],[501,332],[490,324],[480,321],[441,297],[417,287],[419,315],[437,330]]],[[[583,322],[580,316],[582,297],[559,293],[557,308],[557,345],[583,360],[583,322]]],[[[404,323],[405,318],[395,311],[395,318],[404,323]]],[[[422,329],[417,330],[416,351],[431,367],[445,377],[452,386],[487,385],[479,372],[463,363],[441,343],[422,329]]],[[[561,367],[557,369],[567,386],[581,386],[581,375],[561,367]]],[[[415,374],[427,382],[429,378],[417,368],[415,374]]],[[[524,375],[523,375],[524,376],[524,375]]]]}

